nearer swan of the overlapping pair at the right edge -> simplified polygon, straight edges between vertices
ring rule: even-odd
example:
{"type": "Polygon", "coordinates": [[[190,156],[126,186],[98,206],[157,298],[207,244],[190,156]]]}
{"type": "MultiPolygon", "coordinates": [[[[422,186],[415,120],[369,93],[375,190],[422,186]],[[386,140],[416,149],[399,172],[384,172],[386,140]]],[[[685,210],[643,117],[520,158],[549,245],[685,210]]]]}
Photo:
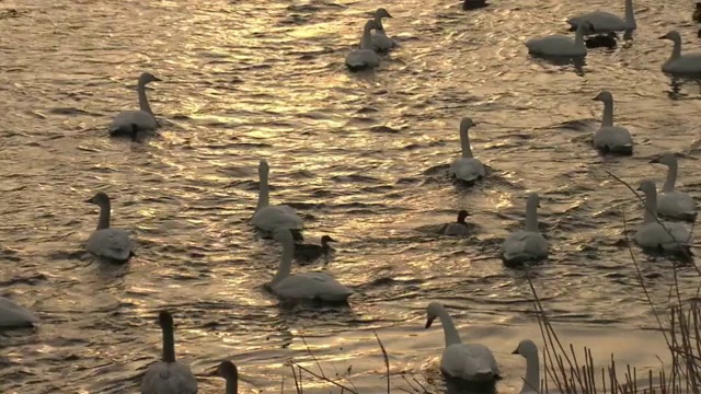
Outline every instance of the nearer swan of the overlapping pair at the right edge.
{"type": "Polygon", "coordinates": [[[643,248],[658,252],[686,252],[690,256],[691,233],[689,229],[681,223],[664,222],[663,227],[657,222],[657,187],[655,182],[643,181],[637,189],[645,194],[645,217],[643,224],[635,233],[635,242],[643,248]]]}

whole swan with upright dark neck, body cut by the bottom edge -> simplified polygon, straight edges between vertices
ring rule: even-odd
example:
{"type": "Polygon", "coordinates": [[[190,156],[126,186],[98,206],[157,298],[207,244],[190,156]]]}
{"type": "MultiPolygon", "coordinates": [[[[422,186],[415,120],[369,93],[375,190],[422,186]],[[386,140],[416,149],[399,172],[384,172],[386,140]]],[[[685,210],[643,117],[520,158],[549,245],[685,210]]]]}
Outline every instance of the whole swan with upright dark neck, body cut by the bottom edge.
{"type": "Polygon", "coordinates": [[[152,363],[141,379],[141,394],[195,394],[197,380],[189,367],[175,361],[173,316],[168,311],[158,314],[163,331],[163,359],[152,363]]]}

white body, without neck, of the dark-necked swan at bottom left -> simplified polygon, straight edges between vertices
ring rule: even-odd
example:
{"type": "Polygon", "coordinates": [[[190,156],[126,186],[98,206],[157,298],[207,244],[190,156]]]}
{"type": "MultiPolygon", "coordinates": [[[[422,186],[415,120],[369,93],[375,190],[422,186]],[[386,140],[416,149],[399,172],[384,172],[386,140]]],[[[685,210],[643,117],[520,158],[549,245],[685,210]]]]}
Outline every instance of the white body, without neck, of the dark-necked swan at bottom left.
{"type": "Polygon", "coordinates": [[[141,394],[196,394],[197,380],[180,362],[152,363],[141,379],[141,394]]]}

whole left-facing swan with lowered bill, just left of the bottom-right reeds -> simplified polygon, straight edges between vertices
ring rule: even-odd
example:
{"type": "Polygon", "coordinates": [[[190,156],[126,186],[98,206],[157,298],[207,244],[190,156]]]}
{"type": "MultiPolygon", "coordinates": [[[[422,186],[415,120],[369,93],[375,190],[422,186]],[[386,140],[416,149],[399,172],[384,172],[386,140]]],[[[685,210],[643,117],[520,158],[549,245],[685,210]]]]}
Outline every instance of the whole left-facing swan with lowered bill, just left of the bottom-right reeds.
{"type": "Polygon", "coordinates": [[[446,349],[440,359],[440,370],[451,378],[466,381],[493,381],[499,376],[492,350],[481,344],[463,344],[452,318],[438,302],[432,302],[426,309],[426,328],[440,317],[446,337],[446,349]]]}

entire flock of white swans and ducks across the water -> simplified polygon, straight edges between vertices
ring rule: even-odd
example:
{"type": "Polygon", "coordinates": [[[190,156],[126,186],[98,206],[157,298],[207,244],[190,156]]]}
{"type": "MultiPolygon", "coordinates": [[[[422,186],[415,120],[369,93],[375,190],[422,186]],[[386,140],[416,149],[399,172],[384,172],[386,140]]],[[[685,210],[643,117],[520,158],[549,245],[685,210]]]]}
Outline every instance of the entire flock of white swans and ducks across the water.
{"type": "MultiPolygon", "coordinates": [[[[464,9],[471,9],[475,3],[484,1],[464,1],[464,9]],[[468,4],[469,3],[469,4],[468,4]]],[[[377,68],[382,54],[397,48],[399,45],[390,38],[382,25],[383,18],[392,18],[383,8],[376,11],[375,18],[365,23],[363,37],[358,48],[350,50],[346,57],[346,65],[350,70],[377,68]]],[[[625,0],[625,16],[621,19],[608,12],[591,12],[572,18],[567,21],[575,31],[575,37],[564,35],[547,36],[527,40],[525,44],[531,54],[548,56],[576,57],[586,56],[584,44],[586,35],[605,34],[616,36],[617,32],[624,32],[630,38],[637,27],[632,0],[625,0]]],[[[673,76],[701,72],[701,54],[681,55],[679,33],[671,31],[662,38],[674,42],[671,57],[663,65],[662,70],[673,76]]],[[[159,123],[151,111],[146,95],[146,85],[160,81],[149,72],[138,79],[138,111],[127,111],[118,114],[108,127],[111,136],[128,136],[137,139],[141,131],[154,130],[159,123]]],[[[596,149],[608,154],[630,155],[633,153],[633,139],[629,130],[613,124],[613,96],[608,91],[601,91],[593,100],[604,103],[601,126],[593,138],[596,149]]],[[[468,186],[489,176],[485,166],[473,155],[470,147],[469,131],[475,126],[470,117],[460,121],[459,137],[461,155],[456,158],[448,167],[448,176],[453,182],[468,186]]],[[[633,240],[644,250],[663,253],[688,252],[691,234],[683,223],[694,221],[697,208],[693,198],[686,193],[675,189],[678,173],[677,158],[673,153],[665,153],[651,163],[658,163],[668,167],[667,179],[660,193],[654,181],[643,181],[639,190],[645,196],[645,213],[643,223],[637,228],[633,240]],[[658,217],[668,221],[660,222],[658,217]]],[[[283,300],[320,300],[325,302],[347,302],[354,291],[338,282],[327,273],[307,271],[292,274],[292,263],[304,265],[317,260],[331,251],[330,242],[334,240],[324,235],[321,245],[300,244],[303,240],[303,222],[294,208],[286,205],[271,205],[268,176],[269,164],[266,160],[258,163],[260,189],[258,199],[253,215],[252,224],[265,236],[273,237],[283,245],[280,263],[277,273],[265,288],[283,300]]],[[[95,231],[85,243],[87,252],[111,262],[126,263],[135,255],[129,232],[113,228],[110,224],[111,202],[105,193],[96,193],[87,202],[100,208],[100,216],[95,231]]],[[[510,233],[503,242],[501,257],[505,263],[533,263],[548,257],[549,243],[538,228],[537,209],[540,198],[537,193],[528,195],[526,201],[526,221],[521,230],[510,233]]],[[[466,210],[458,212],[457,221],[445,223],[439,233],[450,236],[464,236],[470,229],[467,219],[470,213],[466,210]]],[[[451,378],[474,382],[493,382],[499,379],[501,372],[492,351],[482,344],[463,344],[455,327],[451,316],[437,302],[430,302],[426,309],[426,328],[430,327],[435,318],[440,318],[445,334],[445,350],[440,368],[451,378]]],[[[168,311],[159,313],[159,324],[162,331],[162,359],[149,367],[141,381],[143,394],[196,393],[197,380],[191,369],[175,359],[175,341],[173,333],[173,317],[168,311]]],[[[0,298],[0,326],[14,327],[33,325],[38,318],[28,310],[15,304],[7,298],[0,298]]],[[[538,392],[540,387],[540,371],[538,347],[531,340],[521,340],[514,354],[527,360],[527,371],[521,393],[538,392]]],[[[238,391],[238,370],[230,361],[222,361],[216,373],[227,380],[227,393],[238,391]]]]}

